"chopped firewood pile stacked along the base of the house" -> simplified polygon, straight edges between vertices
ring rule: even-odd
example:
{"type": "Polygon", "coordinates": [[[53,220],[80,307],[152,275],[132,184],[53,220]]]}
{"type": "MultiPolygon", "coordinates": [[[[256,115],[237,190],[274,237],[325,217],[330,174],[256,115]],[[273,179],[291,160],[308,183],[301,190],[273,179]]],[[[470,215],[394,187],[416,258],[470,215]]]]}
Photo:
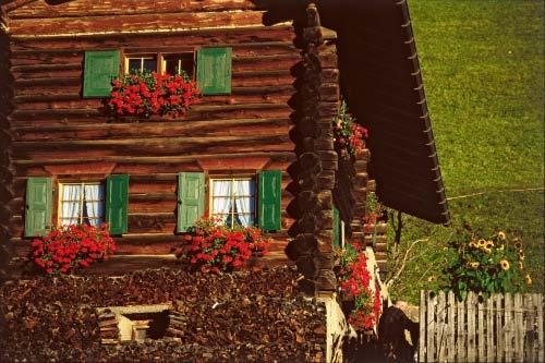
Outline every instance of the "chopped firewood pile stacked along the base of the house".
{"type": "MultiPolygon", "coordinates": [[[[292,267],[229,275],[148,269],[0,286],[0,361],[324,361],[326,311],[299,292],[292,267]],[[161,339],[118,338],[96,307],[170,302],[161,339]]],[[[111,315],[111,316],[110,316],[111,315]]]]}

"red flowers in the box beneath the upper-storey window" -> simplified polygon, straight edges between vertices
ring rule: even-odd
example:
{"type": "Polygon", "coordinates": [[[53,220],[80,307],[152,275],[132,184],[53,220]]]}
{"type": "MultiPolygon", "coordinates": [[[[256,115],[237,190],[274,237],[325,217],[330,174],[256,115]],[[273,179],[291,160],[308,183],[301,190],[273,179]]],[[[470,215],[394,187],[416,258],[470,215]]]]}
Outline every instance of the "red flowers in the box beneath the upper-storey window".
{"type": "Polygon", "coordinates": [[[175,118],[186,113],[201,97],[195,82],[183,74],[134,73],[116,78],[111,84],[113,88],[107,106],[117,117],[175,118]]]}

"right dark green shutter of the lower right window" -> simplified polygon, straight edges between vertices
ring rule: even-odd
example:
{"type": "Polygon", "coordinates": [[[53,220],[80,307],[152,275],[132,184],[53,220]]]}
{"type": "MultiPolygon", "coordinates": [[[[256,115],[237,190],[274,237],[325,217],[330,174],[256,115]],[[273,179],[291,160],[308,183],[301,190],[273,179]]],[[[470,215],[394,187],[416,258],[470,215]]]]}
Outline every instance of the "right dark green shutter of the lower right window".
{"type": "Polygon", "coordinates": [[[282,172],[266,170],[259,173],[257,195],[257,219],[264,231],[280,230],[280,199],[282,172]]]}

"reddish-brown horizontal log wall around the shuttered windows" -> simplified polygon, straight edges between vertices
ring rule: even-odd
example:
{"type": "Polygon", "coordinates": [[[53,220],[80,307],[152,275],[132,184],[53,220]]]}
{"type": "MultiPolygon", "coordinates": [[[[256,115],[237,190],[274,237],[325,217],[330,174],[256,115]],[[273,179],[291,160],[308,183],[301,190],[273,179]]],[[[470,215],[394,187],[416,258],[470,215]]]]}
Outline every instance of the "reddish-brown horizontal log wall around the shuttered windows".
{"type": "MultiPolygon", "coordinates": [[[[169,253],[180,240],[174,234],[179,172],[280,169],[284,171],[282,229],[271,234],[275,243],[269,258],[284,261],[283,250],[290,233],[293,237],[296,218],[289,211],[296,190],[290,186],[293,180],[288,170],[298,159],[293,129],[301,96],[295,86],[303,78],[294,27],[263,26],[262,13],[247,1],[183,1],[194,8],[183,8],[181,1],[154,1],[153,7],[138,1],[137,11],[133,3],[136,1],[99,1],[95,7],[94,1],[94,16],[87,16],[89,1],[55,7],[36,1],[11,11],[13,82],[9,88],[13,108],[4,111],[1,123],[10,126],[7,162],[13,173],[9,184],[13,193],[3,194],[9,196],[8,213],[0,217],[5,235],[11,237],[7,245],[21,257],[29,250],[28,240],[23,239],[28,177],[88,180],[129,173],[129,232],[117,239],[118,253],[157,255],[169,253]],[[214,26],[190,12],[197,8],[206,13],[203,16],[215,20],[214,26]],[[230,11],[235,8],[239,11],[230,11]],[[187,27],[199,24],[206,28],[174,29],[167,22],[172,14],[193,16],[184,21],[187,27]],[[255,24],[237,21],[241,26],[233,27],[225,21],[233,14],[255,19],[255,24]],[[126,25],[122,16],[138,21],[126,25]],[[110,21],[102,22],[105,17],[110,21]],[[138,32],[132,32],[135,24],[138,32]],[[143,32],[146,29],[153,32],[143,32]],[[184,117],[114,119],[105,114],[100,99],[81,97],[86,50],[169,52],[210,45],[232,47],[232,94],[204,96],[184,117]]],[[[316,56],[322,69],[317,109],[324,122],[330,123],[339,102],[335,46],[322,46],[316,56]]],[[[336,155],[330,155],[330,132],[316,140],[316,145],[324,169],[330,170],[320,179],[330,184],[337,164],[336,155]]],[[[10,177],[5,171],[3,176],[10,177]]]]}

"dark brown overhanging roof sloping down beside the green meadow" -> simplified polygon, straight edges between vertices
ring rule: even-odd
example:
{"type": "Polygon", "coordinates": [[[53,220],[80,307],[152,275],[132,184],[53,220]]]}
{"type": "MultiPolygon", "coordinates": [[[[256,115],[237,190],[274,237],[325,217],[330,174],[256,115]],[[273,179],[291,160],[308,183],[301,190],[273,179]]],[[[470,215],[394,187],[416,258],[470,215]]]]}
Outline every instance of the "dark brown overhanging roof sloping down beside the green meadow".
{"type": "Polygon", "coordinates": [[[370,129],[377,194],[389,207],[448,223],[407,1],[362,2],[334,25],[349,108],[370,129]]]}

